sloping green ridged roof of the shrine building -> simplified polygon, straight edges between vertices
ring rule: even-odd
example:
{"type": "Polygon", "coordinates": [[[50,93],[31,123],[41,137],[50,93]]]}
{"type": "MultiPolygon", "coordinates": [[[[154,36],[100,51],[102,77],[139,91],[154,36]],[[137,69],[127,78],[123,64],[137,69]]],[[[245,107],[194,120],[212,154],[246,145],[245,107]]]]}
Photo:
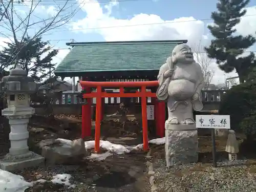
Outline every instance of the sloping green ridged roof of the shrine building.
{"type": "MultiPolygon", "coordinates": [[[[159,70],[174,47],[187,40],[72,42],[73,49],[55,69],[56,76],[89,72],[159,70]]],[[[79,74],[79,75],[78,75],[79,74]]]]}

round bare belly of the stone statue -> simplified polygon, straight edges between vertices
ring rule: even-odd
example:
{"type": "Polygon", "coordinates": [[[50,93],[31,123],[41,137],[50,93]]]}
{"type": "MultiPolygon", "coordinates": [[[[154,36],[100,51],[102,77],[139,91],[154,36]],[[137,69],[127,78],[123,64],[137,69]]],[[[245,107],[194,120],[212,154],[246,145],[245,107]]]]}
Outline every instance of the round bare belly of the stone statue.
{"type": "Polygon", "coordinates": [[[195,93],[195,83],[185,80],[172,80],[168,86],[168,94],[177,100],[186,100],[195,93]]]}

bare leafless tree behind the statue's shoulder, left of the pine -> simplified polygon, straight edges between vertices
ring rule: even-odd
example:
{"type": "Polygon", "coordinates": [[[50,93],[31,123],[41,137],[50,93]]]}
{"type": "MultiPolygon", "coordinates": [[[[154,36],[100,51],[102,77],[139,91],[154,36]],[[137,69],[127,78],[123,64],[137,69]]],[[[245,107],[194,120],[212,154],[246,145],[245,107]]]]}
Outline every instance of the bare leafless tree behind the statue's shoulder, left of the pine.
{"type": "Polygon", "coordinates": [[[204,46],[202,45],[202,40],[199,41],[199,44],[193,47],[194,57],[196,61],[202,68],[203,75],[204,75],[204,90],[209,88],[209,84],[211,83],[212,77],[215,75],[215,71],[212,70],[210,67],[211,59],[207,56],[204,52],[204,46]]]}

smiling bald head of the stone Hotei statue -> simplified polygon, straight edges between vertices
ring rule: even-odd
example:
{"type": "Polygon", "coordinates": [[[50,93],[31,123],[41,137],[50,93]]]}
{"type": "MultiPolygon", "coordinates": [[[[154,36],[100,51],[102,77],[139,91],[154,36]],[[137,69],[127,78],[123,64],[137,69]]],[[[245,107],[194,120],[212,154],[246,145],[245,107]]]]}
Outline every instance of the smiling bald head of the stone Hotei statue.
{"type": "Polygon", "coordinates": [[[172,56],[176,62],[184,64],[191,64],[194,62],[193,52],[186,44],[177,45],[173,50],[172,56]]]}

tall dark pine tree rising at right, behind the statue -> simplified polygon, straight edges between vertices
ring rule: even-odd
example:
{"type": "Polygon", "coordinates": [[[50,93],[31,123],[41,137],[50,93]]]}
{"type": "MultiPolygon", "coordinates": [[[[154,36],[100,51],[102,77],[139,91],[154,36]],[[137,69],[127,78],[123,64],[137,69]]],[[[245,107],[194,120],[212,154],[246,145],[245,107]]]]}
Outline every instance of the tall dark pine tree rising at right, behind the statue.
{"type": "Polygon", "coordinates": [[[240,82],[244,82],[251,67],[254,54],[242,56],[256,41],[252,35],[236,34],[234,27],[246,14],[244,9],[249,0],[218,0],[218,11],[211,13],[214,25],[208,26],[212,36],[211,45],[205,48],[208,57],[216,59],[219,68],[226,73],[236,69],[240,82]]]}

